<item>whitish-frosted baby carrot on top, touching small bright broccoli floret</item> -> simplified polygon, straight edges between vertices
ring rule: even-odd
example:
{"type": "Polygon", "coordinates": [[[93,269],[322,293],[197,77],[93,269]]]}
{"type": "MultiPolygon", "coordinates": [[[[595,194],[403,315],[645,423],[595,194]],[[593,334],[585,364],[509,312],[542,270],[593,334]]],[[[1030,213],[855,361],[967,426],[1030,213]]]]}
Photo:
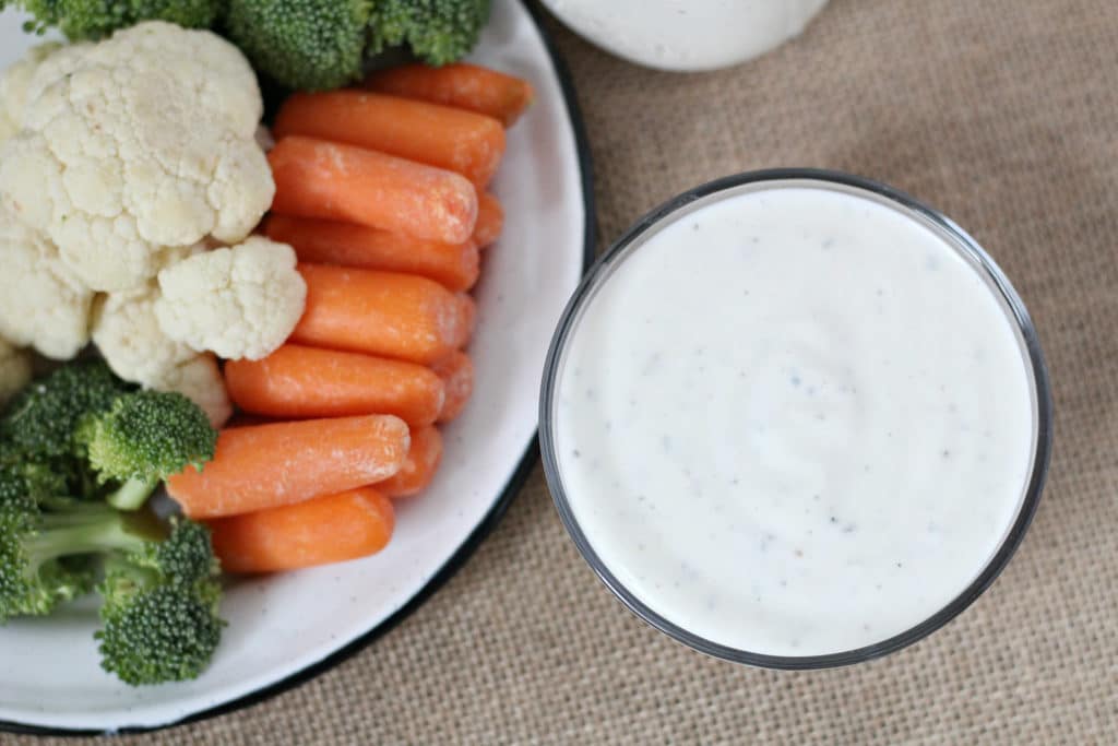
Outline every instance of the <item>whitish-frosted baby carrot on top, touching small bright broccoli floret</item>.
{"type": "Polygon", "coordinates": [[[383,481],[409,446],[407,424],[391,415],[225,429],[214,460],[176,474],[167,491],[191,518],[247,513],[383,481]]]}

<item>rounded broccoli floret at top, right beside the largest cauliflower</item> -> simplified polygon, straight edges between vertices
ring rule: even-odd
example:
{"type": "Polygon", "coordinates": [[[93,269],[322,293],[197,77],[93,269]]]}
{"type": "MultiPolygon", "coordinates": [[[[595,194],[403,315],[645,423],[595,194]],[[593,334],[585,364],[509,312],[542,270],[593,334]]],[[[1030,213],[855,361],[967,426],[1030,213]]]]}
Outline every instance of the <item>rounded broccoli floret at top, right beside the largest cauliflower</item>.
{"type": "Polygon", "coordinates": [[[369,0],[230,0],[225,30],[258,72],[324,91],[361,75],[369,0]]]}

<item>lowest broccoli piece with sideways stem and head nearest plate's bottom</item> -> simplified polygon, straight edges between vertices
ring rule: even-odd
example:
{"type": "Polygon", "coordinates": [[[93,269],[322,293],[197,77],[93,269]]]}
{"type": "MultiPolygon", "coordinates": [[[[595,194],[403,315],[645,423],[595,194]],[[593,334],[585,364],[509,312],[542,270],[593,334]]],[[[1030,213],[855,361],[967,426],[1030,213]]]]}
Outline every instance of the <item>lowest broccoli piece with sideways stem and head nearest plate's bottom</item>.
{"type": "Polygon", "coordinates": [[[44,615],[92,589],[104,596],[102,665],[132,684],[197,677],[220,639],[220,586],[208,530],[104,503],[49,503],[61,485],[0,468],[0,620],[44,615]],[[29,488],[29,489],[28,489],[29,488]]]}

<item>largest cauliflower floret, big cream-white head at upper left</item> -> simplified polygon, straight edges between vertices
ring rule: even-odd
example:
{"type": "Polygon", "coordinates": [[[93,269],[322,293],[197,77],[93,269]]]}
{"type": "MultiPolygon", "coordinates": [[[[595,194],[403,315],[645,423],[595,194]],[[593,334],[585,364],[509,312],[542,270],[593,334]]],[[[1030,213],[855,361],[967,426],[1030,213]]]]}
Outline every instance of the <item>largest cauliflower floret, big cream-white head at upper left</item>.
{"type": "Polygon", "coordinates": [[[0,199],[89,287],[140,286],[165,247],[241,240],[267,210],[263,102],[229,43],[152,21],[47,66],[0,154],[0,199]]]}

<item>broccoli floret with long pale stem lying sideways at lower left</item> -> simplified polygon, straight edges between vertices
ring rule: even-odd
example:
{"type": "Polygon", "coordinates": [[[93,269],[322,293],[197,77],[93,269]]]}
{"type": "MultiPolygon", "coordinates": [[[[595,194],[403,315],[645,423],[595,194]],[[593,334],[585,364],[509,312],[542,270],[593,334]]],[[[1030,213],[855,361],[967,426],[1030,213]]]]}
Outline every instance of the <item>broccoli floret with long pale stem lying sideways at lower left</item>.
{"type": "Polygon", "coordinates": [[[144,516],[92,503],[47,512],[32,495],[9,492],[0,503],[0,621],[49,614],[93,588],[97,554],[144,553],[161,538],[144,516]]]}

